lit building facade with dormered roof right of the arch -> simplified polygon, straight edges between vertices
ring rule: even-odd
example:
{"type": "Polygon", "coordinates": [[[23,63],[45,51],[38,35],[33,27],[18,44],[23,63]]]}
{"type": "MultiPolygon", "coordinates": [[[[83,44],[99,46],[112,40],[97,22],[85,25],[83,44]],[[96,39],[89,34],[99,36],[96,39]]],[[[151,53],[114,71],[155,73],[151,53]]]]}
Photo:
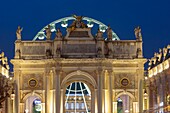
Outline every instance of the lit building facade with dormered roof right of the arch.
{"type": "Polygon", "coordinates": [[[146,88],[148,112],[170,112],[170,45],[160,49],[150,60],[146,88]]]}

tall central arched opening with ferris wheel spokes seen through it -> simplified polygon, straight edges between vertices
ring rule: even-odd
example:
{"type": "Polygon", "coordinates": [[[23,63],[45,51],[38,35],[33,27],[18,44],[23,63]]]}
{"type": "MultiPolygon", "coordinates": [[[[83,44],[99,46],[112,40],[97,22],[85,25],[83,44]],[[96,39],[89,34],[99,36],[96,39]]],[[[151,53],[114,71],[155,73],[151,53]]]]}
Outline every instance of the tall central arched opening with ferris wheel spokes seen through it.
{"type": "Polygon", "coordinates": [[[86,83],[72,82],[65,90],[66,113],[91,113],[91,91],[86,83]]]}

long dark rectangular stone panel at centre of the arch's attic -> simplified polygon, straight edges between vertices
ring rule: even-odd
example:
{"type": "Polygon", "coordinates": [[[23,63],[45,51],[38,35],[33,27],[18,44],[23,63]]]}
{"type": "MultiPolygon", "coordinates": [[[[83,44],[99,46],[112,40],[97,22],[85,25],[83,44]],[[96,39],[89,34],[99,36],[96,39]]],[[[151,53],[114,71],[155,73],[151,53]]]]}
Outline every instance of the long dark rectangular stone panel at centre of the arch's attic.
{"type": "Polygon", "coordinates": [[[63,53],[95,53],[95,44],[65,44],[63,53]]]}

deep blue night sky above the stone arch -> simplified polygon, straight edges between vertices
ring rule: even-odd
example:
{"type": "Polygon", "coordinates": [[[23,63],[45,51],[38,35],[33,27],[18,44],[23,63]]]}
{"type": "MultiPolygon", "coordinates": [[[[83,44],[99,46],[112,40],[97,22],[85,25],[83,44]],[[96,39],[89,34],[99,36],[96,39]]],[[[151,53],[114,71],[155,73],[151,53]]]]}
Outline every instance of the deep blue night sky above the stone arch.
{"type": "Polygon", "coordinates": [[[32,40],[54,20],[82,15],[110,25],[121,40],[135,40],[140,26],[144,57],[170,44],[170,1],[154,0],[3,0],[0,3],[0,50],[14,57],[16,29],[22,40],[32,40]]]}

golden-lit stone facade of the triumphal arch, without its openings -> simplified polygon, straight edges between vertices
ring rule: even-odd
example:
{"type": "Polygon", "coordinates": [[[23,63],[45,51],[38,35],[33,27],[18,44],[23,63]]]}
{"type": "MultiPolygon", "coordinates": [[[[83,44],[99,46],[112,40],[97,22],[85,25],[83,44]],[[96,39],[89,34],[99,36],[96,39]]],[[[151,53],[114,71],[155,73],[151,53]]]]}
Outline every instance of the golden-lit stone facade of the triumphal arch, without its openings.
{"type": "Polygon", "coordinates": [[[124,90],[133,98],[133,113],[142,112],[141,81],[146,61],[142,39],[112,40],[112,31],[104,38],[100,30],[94,36],[92,28],[79,18],[66,28],[66,35],[58,30],[55,39],[50,34],[52,26],[46,29],[48,32],[46,26],[42,29],[48,35],[44,40],[16,40],[15,57],[11,60],[16,113],[24,113],[23,99],[32,92],[41,97],[42,113],[65,113],[65,89],[72,82],[89,87],[91,113],[117,113],[115,98],[124,90]]]}

